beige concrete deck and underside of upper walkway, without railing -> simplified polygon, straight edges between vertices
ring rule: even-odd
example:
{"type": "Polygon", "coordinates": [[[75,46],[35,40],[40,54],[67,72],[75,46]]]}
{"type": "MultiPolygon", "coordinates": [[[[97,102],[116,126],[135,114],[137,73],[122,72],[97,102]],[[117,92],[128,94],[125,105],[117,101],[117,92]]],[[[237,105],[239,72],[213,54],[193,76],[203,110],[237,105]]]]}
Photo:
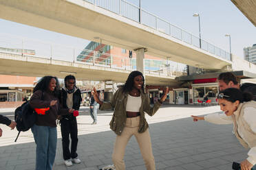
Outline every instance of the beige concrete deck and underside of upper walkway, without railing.
{"type": "MultiPolygon", "coordinates": [[[[146,48],[151,56],[202,69],[231,62],[182,40],[82,0],[0,0],[0,18],[123,49],[146,48]]],[[[96,72],[94,72],[96,73],[96,72]]]]}

